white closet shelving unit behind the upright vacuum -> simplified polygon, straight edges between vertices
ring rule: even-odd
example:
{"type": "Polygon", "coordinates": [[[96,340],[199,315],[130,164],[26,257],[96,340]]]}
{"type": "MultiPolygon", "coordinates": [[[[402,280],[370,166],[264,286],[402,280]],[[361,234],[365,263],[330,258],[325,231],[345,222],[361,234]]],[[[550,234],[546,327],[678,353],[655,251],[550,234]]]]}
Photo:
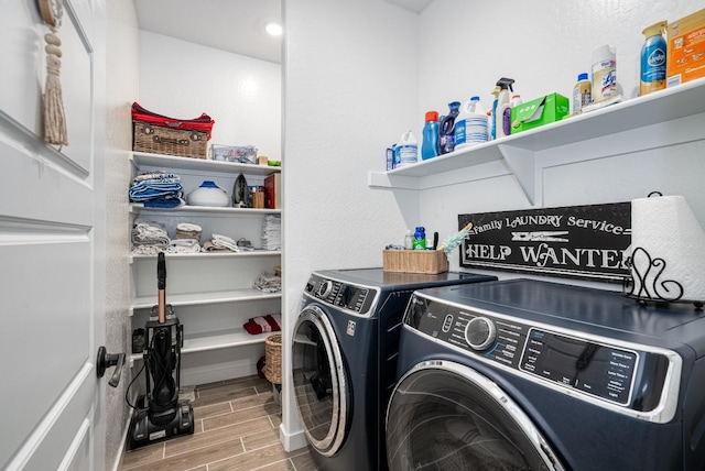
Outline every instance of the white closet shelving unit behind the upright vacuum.
{"type": "MultiPolygon", "coordinates": [[[[166,171],[178,175],[187,200],[189,191],[205,180],[213,180],[231,199],[235,182],[242,175],[248,187],[263,186],[265,178],[281,172],[279,167],[231,162],[145,154],[133,152],[134,173],[166,171]]],[[[261,274],[275,273],[281,265],[280,250],[264,240],[268,221],[281,209],[182,206],[152,208],[130,204],[131,224],[140,220],[154,222],[170,239],[177,226],[188,222],[202,228],[199,245],[213,242],[216,234],[236,242],[249,242],[254,250],[241,252],[165,253],[166,304],[171,305],[183,327],[181,349],[182,384],[204,384],[253,374],[264,354],[268,335],[250,335],[243,326],[254,317],[281,314],[281,292],[258,289],[261,274]]],[[[130,228],[132,229],[132,227],[130,228]]],[[[158,240],[159,241],[159,240],[158,240]]],[[[151,253],[151,248],[140,249],[151,253]]],[[[203,249],[202,249],[203,250],[203,249]]],[[[139,251],[138,251],[139,252],[139,251]]],[[[156,255],[134,253],[129,258],[132,305],[132,331],[144,328],[158,303],[156,255]]],[[[130,364],[143,364],[142,353],[130,355],[130,364]]]]}

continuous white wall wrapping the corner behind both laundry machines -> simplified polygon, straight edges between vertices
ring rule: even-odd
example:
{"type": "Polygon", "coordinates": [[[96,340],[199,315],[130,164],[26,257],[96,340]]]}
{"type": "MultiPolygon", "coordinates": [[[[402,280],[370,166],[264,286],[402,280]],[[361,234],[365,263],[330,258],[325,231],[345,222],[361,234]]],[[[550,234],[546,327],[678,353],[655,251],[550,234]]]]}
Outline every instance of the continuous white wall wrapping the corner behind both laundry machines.
{"type": "MultiPolygon", "coordinates": [[[[514,78],[524,99],[570,97],[577,74],[589,70],[593,48],[605,43],[617,46],[618,81],[632,98],[643,28],[704,7],[705,0],[648,8],[639,0],[435,0],[416,15],[379,0],[284,2],[284,338],[313,270],[379,266],[383,245],[401,242],[406,228],[421,223],[451,234],[458,213],[531,206],[501,162],[478,166],[471,183],[421,194],[367,187],[368,171],[384,169],[386,146],[405,129],[421,136],[426,110],[443,111],[471,95],[489,105],[501,76],[514,78]]],[[[658,189],[684,195],[703,223],[697,176],[705,174],[698,158],[705,138],[695,139],[636,154],[599,151],[571,165],[538,155],[542,206],[625,201],[658,189]]],[[[288,352],[285,346],[284,371],[288,352]]],[[[300,445],[301,427],[290,381],[281,432],[291,448],[300,445]]]]}

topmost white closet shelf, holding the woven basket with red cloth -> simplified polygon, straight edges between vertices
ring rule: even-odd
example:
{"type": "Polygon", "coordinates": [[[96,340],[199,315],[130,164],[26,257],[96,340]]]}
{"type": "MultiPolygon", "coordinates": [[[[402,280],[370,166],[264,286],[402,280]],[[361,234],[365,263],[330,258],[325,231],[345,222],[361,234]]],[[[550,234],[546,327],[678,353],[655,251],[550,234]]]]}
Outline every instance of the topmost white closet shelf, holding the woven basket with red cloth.
{"type": "Polygon", "coordinates": [[[177,157],[173,155],[149,154],[145,152],[132,152],[132,164],[141,166],[169,167],[182,171],[207,171],[225,173],[243,173],[250,175],[269,175],[281,172],[281,166],[240,164],[237,162],[210,161],[206,158],[177,157]]]}

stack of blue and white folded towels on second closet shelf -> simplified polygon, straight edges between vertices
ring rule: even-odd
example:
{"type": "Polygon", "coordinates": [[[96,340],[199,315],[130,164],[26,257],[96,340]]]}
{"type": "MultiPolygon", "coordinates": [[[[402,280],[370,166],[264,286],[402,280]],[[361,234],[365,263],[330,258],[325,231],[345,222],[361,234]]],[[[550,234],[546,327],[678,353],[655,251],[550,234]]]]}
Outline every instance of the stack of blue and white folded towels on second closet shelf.
{"type": "Polygon", "coordinates": [[[130,201],[143,202],[148,208],[177,208],[186,204],[181,178],[165,171],[141,172],[132,179],[128,194],[130,201]]]}

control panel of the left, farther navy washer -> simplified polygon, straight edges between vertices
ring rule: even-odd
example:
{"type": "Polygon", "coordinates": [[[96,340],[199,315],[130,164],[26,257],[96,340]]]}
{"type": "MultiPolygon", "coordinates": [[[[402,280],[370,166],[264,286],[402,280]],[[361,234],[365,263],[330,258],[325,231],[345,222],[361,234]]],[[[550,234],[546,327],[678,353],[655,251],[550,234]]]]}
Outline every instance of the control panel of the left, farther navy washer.
{"type": "Polygon", "coordinates": [[[352,285],[318,275],[312,275],[304,288],[305,295],[323,304],[361,316],[370,315],[378,292],[379,289],[373,287],[352,285]]]}

